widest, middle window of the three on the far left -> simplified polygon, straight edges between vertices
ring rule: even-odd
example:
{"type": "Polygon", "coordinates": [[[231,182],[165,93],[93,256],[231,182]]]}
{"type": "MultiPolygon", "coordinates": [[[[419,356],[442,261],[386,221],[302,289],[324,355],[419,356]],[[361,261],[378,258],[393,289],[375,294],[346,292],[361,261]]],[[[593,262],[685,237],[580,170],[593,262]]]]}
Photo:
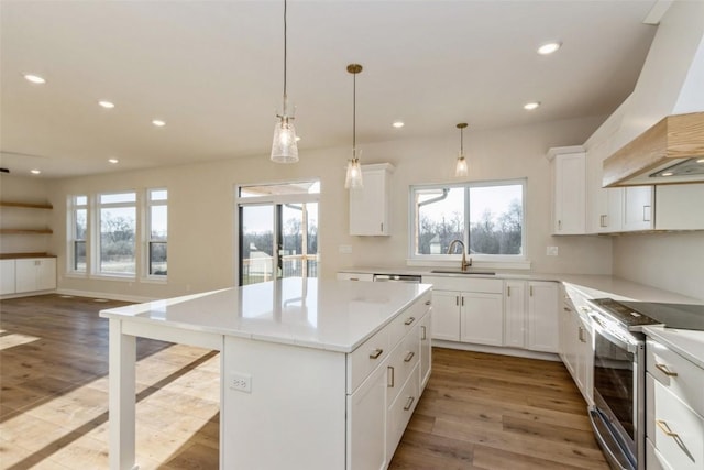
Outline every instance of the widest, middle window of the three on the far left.
{"type": "Polygon", "coordinates": [[[98,195],[98,273],[135,276],[136,193],[98,195]]]}

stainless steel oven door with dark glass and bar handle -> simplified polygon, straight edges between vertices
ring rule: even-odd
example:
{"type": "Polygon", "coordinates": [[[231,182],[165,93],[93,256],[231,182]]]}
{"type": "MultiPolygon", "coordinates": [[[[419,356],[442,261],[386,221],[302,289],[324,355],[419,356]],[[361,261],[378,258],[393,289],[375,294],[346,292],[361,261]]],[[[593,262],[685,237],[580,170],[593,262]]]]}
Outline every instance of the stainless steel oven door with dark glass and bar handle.
{"type": "Polygon", "coordinates": [[[590,409],[596,438],[614,469],[645,468],[642,338],[594,320],[594,406],[590,409]]]}

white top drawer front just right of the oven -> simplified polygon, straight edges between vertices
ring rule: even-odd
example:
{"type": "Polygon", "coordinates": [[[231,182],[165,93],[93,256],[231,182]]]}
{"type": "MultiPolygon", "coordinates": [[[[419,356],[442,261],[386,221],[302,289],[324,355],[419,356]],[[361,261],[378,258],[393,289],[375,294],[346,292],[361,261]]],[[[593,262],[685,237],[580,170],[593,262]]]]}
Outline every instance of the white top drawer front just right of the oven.
{"type": "Polygon", "coordinates": [[[704,416],[704,369],[652,339],[648,339],[646,356],[648,372],[704,416]]]}

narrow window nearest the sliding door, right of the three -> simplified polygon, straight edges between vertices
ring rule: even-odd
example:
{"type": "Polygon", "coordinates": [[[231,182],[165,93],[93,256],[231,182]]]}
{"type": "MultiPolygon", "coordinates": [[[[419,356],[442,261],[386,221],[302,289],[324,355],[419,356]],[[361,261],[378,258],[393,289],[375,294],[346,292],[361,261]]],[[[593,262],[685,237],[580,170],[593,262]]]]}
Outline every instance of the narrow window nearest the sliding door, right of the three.
{"type": "Polygon", "coordinates": [[[148,189],[147,205],[147,270],[150,276],[166,277],[166,239],[168,234],[168,192],[148,189]]]}

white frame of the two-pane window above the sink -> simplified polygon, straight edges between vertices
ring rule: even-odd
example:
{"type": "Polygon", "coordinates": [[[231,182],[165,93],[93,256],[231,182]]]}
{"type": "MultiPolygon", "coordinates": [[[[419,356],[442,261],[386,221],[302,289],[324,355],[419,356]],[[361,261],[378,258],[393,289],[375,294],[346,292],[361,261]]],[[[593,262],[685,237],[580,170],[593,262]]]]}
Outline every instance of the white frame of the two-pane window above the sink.
{"type": "Polygon", "coordinates": [[[473,265],[482,267],[502,267],[502,269],[530,269],[530,261],[527,253],[527,178],[513,179],[491,179],[491,181],[472,181],[472,182],[450,182],[450,183],[432,183],[432,184],[415,184],[408,187],[408,259],[409,266],[454,266],[459,264],[461,254],[418,254],[416,248],[416,193],[418,190],[443,189],[443,188],[463,188],[464,189],[464,239],[462,242],[468,247],[466,255],[472,258],[473,265]],[[521,214],[521,253],[520,254],[470,254],[470,189],[476,187],[494,187],[494,186],[521,186],[522,214],[521,214]]]}

